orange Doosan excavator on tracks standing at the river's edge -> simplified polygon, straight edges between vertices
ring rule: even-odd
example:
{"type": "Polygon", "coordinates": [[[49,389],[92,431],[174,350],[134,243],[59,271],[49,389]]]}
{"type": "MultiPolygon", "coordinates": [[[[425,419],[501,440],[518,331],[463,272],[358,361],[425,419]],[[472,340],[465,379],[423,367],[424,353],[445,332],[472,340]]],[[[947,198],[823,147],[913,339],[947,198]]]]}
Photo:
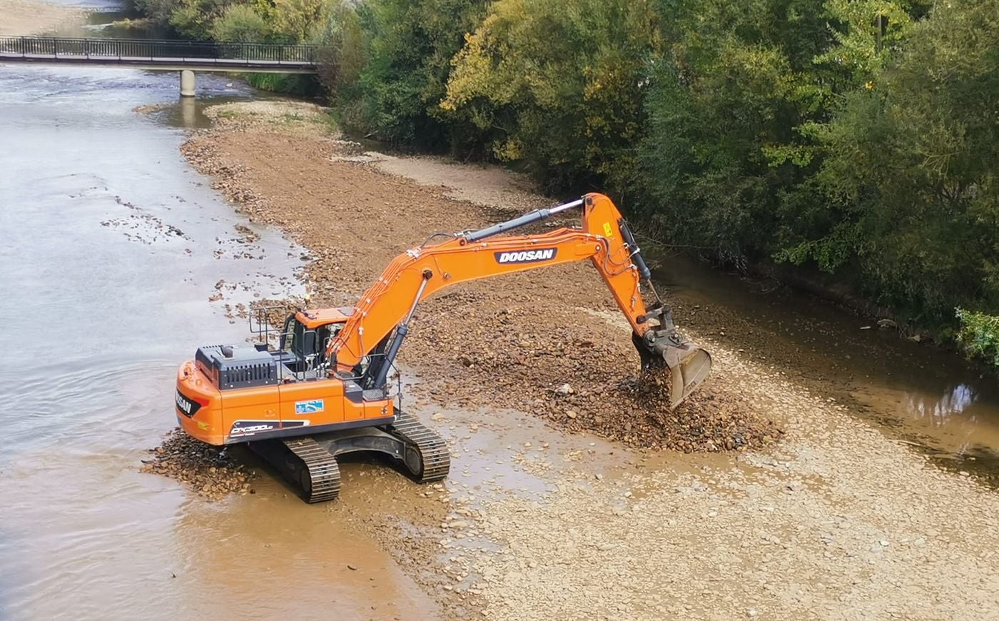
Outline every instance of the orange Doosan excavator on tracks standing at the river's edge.
{"type": "Polygon", "coordinates": [[[479,231],[434,235],[396,257],[353,308],[288,317],[275,345],[264,334],[257,344],[200,347],[177,373],[177,419],[202,442],[249,443],[308,502],[337,497],[337,457],[355,451],[390,455],[420,482],[441,480],[447,443],[397,407],[388,381],[417,305],[458,283],[584,259],[631,324],[642,369],[669,369],[675,407],[707,377],[711,358],[673,326],[614,204],[587,194],[479,231]],[[580,208],[579,228],[502,235],[580,208]]]}

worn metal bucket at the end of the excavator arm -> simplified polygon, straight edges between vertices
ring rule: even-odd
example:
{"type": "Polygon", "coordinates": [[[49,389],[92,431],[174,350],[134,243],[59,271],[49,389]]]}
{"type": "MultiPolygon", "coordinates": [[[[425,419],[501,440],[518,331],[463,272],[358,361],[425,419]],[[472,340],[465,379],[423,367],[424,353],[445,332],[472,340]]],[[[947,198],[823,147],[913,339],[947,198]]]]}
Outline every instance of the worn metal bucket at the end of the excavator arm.
{"type": "Polygon", "coordinates": [[[671,326],[667,330],[648,330],[642,337],[632,334],[632,340],[641,357],[642,371],[668,369],[670,409],[697,390],[711,372],[711,355],[671,326]]]}

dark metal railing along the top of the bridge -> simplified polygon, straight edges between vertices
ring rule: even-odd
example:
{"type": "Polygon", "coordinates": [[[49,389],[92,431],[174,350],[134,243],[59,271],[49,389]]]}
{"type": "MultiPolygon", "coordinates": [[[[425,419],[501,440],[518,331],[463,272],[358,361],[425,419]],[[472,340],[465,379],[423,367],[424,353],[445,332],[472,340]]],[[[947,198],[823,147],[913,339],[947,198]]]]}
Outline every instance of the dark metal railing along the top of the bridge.
{"type": "Polygon", "coordinates": [[[225,60],[315,65],[316,46],[157,39],[0,37],[3,56],[120,61],[225,60]]]}

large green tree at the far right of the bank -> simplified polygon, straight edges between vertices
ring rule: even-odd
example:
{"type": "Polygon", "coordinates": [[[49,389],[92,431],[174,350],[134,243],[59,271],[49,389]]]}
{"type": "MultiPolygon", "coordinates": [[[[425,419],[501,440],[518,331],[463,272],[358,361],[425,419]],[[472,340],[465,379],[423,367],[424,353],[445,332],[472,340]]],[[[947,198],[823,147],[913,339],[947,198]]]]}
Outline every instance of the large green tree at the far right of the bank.
{"type": "Polygon", "coordinates": [[[999,1],[937,5],[904,49],[813,128],[826,227],[785,255],[837,249],[881,302],[946,321],[999,309],[999,1]],[[831,231],[837,231],[831,235],[831,231]]]}

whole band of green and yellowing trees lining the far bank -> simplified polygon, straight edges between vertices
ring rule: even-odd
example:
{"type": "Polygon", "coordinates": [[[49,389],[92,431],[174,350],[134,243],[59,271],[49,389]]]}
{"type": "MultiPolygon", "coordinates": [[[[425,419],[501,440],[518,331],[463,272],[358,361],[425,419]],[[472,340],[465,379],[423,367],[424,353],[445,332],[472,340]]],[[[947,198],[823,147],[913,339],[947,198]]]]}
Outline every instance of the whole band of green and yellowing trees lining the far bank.
{"type": "Polygon", "coordinates": [[[318,42],[349,129],[608,191],[665,241],[910,320],[976,309],[962,342],[994,355],[999,0],[136,2],[192,38],[318,42]]]}

